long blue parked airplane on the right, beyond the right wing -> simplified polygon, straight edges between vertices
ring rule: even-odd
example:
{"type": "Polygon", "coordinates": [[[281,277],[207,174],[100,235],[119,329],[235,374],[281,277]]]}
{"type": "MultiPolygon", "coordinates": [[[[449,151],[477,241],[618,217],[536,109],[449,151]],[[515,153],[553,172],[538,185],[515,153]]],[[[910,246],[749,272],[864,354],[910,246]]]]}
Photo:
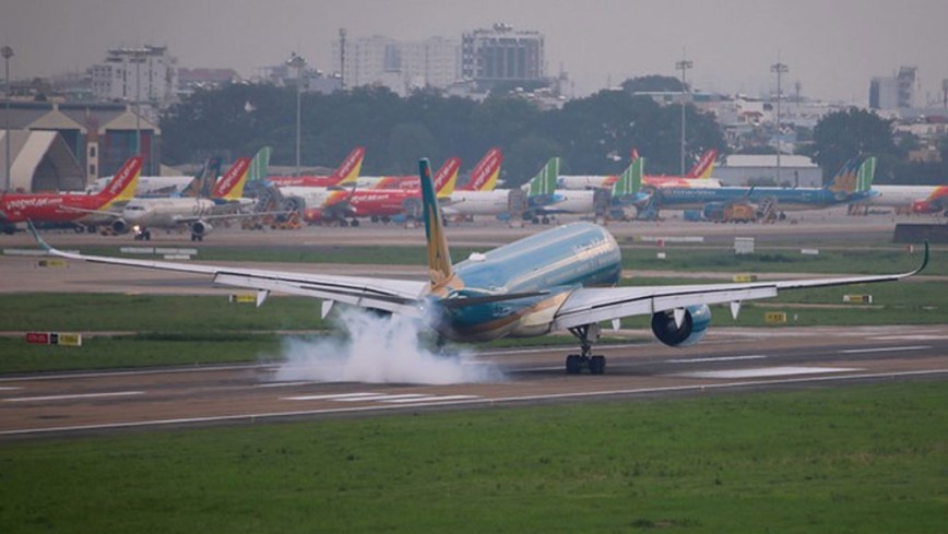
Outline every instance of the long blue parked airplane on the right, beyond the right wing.
{"type": "Polygon", "coordinates": [[[653,188],[645,212],[662,209],[720,207],[730,203],[751,204],[758,212],[771,210],[818,210],[840,204],[862,202],[872,198],[875,157],[853,158],[843,165],[832,183],[825,188],[718,187],[718,188],[653,188]]]}

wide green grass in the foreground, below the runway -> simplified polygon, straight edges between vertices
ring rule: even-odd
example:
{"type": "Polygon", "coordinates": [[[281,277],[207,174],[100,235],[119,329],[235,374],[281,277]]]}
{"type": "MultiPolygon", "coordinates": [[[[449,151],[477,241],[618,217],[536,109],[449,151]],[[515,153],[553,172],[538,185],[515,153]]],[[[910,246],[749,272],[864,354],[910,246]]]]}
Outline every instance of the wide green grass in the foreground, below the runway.
{"type": "Polygon", "coordinates": [[[0,443],[0,531],[943,533],[946,382],[0,443]]]}

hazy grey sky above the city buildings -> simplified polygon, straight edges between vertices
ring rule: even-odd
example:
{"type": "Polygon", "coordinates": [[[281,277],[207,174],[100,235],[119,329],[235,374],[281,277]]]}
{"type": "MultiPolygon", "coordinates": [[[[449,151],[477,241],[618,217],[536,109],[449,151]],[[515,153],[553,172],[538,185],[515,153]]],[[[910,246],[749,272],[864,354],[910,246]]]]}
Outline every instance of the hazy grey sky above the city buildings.
{"type": "Polygon", "coordinates": [[[759,95],[770,66],[790,67],[784,91],[866,103],[869,79],[919,67],[940,97],[948,79],[948,0],[0,0],[0,44],[13,79],[82,71],[109,47],[167,45],[180,67],[244,75],[298,50],[332,70],[331,43],[384,35],[420,40],[506,22],[546,36],[548,73],[578,94],[626,78],[678,75],[683,49],[699,88],[759,95]]]}

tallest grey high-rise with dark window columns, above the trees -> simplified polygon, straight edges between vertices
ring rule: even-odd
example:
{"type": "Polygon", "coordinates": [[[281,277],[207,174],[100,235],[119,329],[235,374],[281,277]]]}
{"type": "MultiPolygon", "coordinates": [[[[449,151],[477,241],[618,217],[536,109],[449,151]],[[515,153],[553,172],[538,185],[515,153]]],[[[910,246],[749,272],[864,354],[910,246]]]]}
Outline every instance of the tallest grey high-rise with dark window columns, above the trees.
{"type": "Polygon", "coordinates": [[[461,38],[461,73],[481,85],[545,81],[543,35],[507,24],[475,29],[461,38]]]}

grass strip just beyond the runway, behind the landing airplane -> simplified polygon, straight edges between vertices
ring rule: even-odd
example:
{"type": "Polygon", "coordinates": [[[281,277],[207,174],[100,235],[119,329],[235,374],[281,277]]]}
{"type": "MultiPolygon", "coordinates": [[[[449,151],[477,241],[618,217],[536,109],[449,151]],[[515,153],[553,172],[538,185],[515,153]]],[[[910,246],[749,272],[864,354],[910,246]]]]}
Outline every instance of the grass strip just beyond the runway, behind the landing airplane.
{"type": "MultiPolygon", "coordinates": [[[[688,278],[633,278],[633,285],[696,283],[688,278]]],[[[712,308],[713,325],[944,324],[948,290],[943,282],[906,282],[786,292],[748,302],[735,321],[726,306],[712,308]],[[844,305],[845,294],[870,294],[874,304],[844,305]],[[784,324],[768,324],[765,315],[786,313],[784,324]]],[[[648,317],[623,320],[623,327],[648,329],[648,317]]],[[[131,336],[95,335],[82,347],[28,345],[22,337],[0,337],[0,372],[68,370],[155,365],[193,365],[279,358],[282,339],[332,329],[320,319],[319,302],[274,297],[262,308],[235,305],[225,296],[12,294],[3,297],[0,330],[55,332],[134,332],[131,336]]],[[[620,340],[616,340],[620,341],[620,340]]],[[[568,335],[501,340],[488,347],[572,344],[568,335]]],[[[484,346],[484,345],[478,345],[484,346]]]]}

